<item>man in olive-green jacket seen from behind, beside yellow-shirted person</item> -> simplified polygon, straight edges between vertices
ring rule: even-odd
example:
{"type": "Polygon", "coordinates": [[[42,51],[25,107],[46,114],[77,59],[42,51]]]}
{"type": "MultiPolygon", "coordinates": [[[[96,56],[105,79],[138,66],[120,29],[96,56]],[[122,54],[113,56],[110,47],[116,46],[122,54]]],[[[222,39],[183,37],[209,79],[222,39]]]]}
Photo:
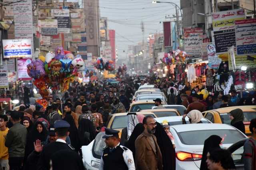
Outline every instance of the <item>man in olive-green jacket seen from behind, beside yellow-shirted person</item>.
{"type": "Polygon", "coordinates": [[[13,126],[6,134],[4,143],[8,148],[10,170],[20,170],[25,155],[27,129],[20,124],[20,117],[18,111],[12,111],[10,120],[13,126]]]}

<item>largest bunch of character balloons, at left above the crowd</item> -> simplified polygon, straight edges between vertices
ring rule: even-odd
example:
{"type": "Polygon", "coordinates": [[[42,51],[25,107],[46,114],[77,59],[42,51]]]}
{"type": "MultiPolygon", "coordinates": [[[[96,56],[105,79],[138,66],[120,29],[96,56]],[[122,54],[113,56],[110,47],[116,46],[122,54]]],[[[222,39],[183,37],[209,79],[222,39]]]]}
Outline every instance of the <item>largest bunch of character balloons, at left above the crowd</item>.
{"type": "Polygon", "coordinates": [[[45,57],[33,60],[28,64],[28,75],[34,79],[34,85],[39,89],[43,99],[52,91],[68,90],[70,82],[77,77],[78,71],[84,70],[84,60],[80,56],[74,57],[71,52],[64,53],[62,47],[57,47],[55,55],[47,53],[45,57]]]}

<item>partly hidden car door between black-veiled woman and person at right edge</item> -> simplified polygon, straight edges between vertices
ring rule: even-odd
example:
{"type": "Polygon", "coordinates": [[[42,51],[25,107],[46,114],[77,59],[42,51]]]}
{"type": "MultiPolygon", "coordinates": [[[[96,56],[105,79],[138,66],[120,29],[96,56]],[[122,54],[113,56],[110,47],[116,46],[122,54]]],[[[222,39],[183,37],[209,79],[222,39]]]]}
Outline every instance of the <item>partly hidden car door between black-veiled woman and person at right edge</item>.
{"type": "Polygon", "coordinates": [[[240,140],[228,148],[236,166],[236,170],[244,170],[243,153],[245,142],[246,139],[240,140]]]}

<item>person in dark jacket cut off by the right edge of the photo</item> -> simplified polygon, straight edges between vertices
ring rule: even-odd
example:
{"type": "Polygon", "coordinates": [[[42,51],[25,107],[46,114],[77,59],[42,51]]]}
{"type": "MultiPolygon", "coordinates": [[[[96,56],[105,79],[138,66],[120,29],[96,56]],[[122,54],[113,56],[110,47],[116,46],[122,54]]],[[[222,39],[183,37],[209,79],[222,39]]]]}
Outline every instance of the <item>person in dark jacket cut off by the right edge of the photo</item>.
{"type": "Polygon", "coordinates": [[[244,170],[256,169],[256,119],[250,122],[252,136],[244,143],[244,170]]]}

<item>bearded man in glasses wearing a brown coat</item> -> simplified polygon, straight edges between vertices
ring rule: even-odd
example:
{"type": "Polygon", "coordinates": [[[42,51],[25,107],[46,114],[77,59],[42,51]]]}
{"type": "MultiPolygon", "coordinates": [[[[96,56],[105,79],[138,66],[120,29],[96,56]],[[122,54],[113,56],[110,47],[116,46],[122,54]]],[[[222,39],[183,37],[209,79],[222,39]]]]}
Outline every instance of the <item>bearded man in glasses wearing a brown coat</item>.
{"type": "Polygon", "coordinates": [[[135,140],[136,170],[162,170],[162,154],[156,142],[156,121],[152,116],[143,119],[144,132],[135,140]]]}

